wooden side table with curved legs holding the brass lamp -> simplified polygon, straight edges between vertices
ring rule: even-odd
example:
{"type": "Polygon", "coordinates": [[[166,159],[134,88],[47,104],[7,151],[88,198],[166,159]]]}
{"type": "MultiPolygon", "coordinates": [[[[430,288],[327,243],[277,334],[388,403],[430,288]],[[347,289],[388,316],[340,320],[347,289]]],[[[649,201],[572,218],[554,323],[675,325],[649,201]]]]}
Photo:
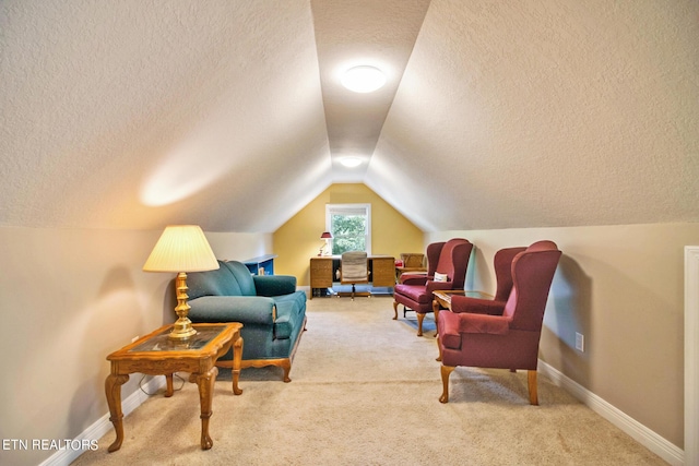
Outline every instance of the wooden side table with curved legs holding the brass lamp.
{"type": "Polygon", "coordinates": [[[117,439],[109,446],[109,453],[121,447],[123,441],[123,413],[121,411],[121,385],[129,374],[141,372],[149,375],[165,375],[165,396],[173,396],[173,373],[190,372],[189,381],[199,386],[201,404],[201,447],[209,450],[213,441],[209,435],[209,418],[212,415],[214,382],[218,374],[216,360],[234,347],[233,393],[239,395],[240,362],[242,358],[242,324],[193,324],[197,335],[179,342],[168,338],[173,325],[165,325],[107,356],[111,361],[111,373],[105,381],[105,392],[109,405],[109,420],[114,423],[117,439]]]}

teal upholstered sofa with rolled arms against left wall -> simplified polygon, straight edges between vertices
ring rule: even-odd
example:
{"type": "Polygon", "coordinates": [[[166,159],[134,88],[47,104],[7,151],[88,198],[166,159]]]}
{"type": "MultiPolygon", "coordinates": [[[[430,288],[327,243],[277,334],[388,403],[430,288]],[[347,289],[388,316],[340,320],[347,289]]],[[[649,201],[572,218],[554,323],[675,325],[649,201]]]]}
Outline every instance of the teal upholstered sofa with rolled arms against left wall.
{"type": "MultiPolygon", "coordinates": [[[[289,275],[250,275],[241,262],[187,274],[189,319],[240,322],[241,368],[279,366],[289,382],[292,360],[306,326],[306,294],[289,275]]],[[[233,350],[232,350],[233,351],[233,350]]],[[[233,353],[222,359],[230,359],[233,353]]]]}

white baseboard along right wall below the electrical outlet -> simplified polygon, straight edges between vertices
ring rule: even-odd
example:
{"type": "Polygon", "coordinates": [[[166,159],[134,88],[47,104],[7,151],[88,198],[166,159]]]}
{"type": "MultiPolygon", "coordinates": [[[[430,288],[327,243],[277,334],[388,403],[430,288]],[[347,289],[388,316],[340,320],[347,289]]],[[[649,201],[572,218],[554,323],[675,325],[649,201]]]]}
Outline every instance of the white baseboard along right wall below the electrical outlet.
{"type": "Polygon", "coordinates": [[[655,453],[671,465],[683,466],[685,464],[685,452],[677,445],[668,442],[657,433],[638,422],[636,419],[612,406],[609,403],[605,402],[570,378],[564,375],[560,371],[554,369],[541,359],[538,360],[538,371],[543,375],[546,375],[554,385],[560,386],[569,392],[590,409],[621,429],[633,440],[655,453]]]}

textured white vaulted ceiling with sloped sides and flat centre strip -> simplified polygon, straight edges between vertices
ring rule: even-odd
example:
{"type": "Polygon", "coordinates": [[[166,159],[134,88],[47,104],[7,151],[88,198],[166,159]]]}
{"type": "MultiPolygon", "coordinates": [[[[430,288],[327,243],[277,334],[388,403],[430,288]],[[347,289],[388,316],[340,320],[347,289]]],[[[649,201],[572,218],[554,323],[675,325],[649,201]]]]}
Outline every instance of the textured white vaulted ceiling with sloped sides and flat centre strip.
{"type": "Polygon", "coordinates": [[[0,226],[699,222],[699,2],[3,0],[0,170],[0,226]]]}

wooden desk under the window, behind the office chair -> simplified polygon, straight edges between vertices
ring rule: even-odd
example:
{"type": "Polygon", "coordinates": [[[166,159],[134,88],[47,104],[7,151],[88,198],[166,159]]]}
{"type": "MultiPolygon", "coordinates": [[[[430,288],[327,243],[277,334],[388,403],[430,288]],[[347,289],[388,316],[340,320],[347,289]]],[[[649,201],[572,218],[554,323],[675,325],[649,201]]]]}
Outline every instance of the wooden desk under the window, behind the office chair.
{"type": "MultiPolygon", "coordinates": [[[[313,289],[332,288],[334,271],[340,265],[339,255],[323,255],[310,258],[310,299],[313,289]]],[[[392,255],[369,255],[369,282],[376,287],[395,286],[395,259],[392,255]]]]}

